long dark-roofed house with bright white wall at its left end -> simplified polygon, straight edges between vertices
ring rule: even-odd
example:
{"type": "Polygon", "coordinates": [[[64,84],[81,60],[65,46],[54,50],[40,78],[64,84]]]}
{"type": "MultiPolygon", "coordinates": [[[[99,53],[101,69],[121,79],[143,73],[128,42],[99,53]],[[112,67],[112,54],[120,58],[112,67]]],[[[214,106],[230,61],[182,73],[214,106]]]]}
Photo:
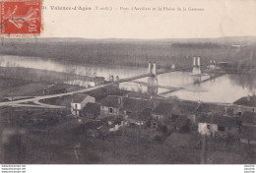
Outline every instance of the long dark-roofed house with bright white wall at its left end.
{"type": "Polygon", "coordinates": [[[217,133],[226,133],[229,135],[238,135],[239,121],[232,117],[200,114],[197,116],[198,132],[202,135],[213,135],[217,133]]]}

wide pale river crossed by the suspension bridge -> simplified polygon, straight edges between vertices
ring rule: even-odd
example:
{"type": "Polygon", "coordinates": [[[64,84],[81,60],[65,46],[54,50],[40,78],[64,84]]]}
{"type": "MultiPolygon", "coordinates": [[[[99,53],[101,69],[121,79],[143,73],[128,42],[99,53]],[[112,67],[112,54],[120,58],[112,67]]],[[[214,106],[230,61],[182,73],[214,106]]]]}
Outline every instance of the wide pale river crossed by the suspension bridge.
{"type": "MultiPolygon", "coordinates": [[[[102,64],[68,64],[55,62],[49,59],[25,56],[0,56],[0,67],[23,67],[40,70],[72,73],[84,76],[104,77],[118,76],[120,79],[132,77],[135,75],[148,73],[148,67],[130,67],[130,66],[106,66],[102,64]]],[[[211,74],[201,77],[201,80],[210,78],[211,74]]],[[[158,94],[169,97],[176,96],[180,99],[201,100],[204,102],[224,102],[231,103],[242,96],[251,94],[256,90],[256,79],[249,75],[223,75],[214,80],[209,80],[202,84],[194,84],[195,78],[189,72],[172,72],[159,75],[158,94]],[[168,92],[166,87],[182,87],[173,92],[168,92]]],[[[147,92],[148,79],[140,79],[135,82],[120,84],[120,87],[129,90],[140,90],[147,92]]]]}

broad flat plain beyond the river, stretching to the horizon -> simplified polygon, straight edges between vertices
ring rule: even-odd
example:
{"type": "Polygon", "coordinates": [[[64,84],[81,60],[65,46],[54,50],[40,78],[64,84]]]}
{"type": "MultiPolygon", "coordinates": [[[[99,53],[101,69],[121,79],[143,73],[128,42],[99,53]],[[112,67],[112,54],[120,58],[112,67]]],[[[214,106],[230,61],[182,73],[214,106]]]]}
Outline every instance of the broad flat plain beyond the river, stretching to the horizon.
{"type": "MultiPolygon", "coordinates": [[[[252,38],[253,40],[255,38],[252,38]]],[[[251,68],[256,64],[256,44],[232,47],[237,41],[205,40],[206,42],[173,42],[168,40],[79,40],[61,41],[58,39],[37,43],[9,40],[2,42],[0,54],[35,56],[71,64],[108,64],[147,66],[148,62],[158,62],[161,67],[191,65],[193,56],[202,57],[203,64],[210,59],[229,61],[235,68],[251,68]]]]}

